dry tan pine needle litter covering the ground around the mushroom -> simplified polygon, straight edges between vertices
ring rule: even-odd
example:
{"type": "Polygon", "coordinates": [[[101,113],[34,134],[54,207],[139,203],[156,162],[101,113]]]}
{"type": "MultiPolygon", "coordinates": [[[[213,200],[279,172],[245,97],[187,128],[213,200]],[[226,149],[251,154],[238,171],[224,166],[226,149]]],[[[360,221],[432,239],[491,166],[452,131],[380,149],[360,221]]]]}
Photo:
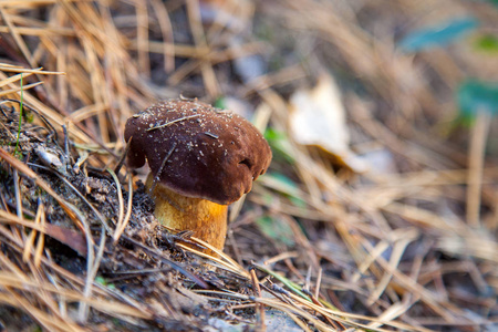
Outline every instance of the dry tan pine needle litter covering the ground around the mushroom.
{"type": "Polygon", "coordinates": [[[496,79],[498,56],[395,44],[396,29],[461,14],[498,21],[484,1],[1,1],[0,322],[261,331],[281,311],[304,331],[498,329],[496,125],[486,155],[452,129],[458,83],[496,79]],[[288,134],[288,96],[325,70],[353,149],[391,172],[338,168],[288,134]],[[113,170],[126,118],[179,94],[246,101],[282,135],[220,258],[166,235],[113,170]]]}

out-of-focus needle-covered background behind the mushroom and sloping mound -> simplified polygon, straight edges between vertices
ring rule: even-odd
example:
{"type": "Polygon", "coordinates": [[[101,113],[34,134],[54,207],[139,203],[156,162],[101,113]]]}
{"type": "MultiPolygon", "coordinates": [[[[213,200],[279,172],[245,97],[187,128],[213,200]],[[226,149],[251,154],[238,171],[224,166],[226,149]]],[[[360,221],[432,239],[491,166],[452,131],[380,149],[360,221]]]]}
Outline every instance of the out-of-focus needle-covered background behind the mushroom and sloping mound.
{"type": "Polygon", "coordinates": [[[3,0],[0,87],[101,168],[158,100],[237,112],[273,152],[237,263],[371,329],[498,329],[497,1],[3,0]]]}

